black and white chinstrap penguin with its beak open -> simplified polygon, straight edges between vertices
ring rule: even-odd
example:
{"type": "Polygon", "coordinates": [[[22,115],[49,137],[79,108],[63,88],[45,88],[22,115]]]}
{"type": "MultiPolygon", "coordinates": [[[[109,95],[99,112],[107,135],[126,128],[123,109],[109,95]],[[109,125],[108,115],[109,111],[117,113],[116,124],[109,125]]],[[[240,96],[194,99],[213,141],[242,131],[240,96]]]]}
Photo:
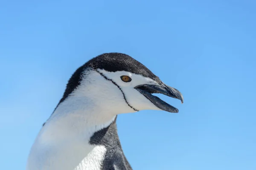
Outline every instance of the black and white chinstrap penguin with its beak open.
{"type": "Polygon", "coordinates": [[[106,53],[78,68],[31,148],[26,170],[131,170],[118,138],[116,115],[140,110],[177,113],[153,93],[180,99],[143,64],[106,53]]]}

